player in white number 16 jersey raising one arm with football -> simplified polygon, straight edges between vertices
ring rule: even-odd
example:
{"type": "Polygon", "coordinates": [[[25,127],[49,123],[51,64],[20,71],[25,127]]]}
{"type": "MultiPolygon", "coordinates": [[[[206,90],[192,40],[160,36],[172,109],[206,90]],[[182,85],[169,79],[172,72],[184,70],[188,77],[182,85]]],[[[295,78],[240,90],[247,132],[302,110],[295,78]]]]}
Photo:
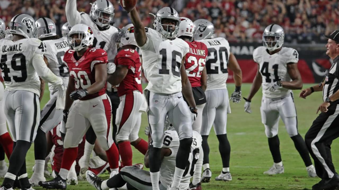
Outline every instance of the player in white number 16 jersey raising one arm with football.
{"type": "Polygon", "coordinates": [[[153,22],[155,29],[144,27],[135,7],[130,11],[129,17],[134,25],[134,36],[141,49],[142,67],[148,80],[144,95],[148,101],[148,123],[152,135],[149,149],[152,186],[154,190],[159,189],[159,158],[164,139],[164,124],[168,116],[180,139],[175,175],[170,187],[177,189],[186,167],[182,161],[187,160],[190,155],[192,116],[196,117],[198,111],[184,65],[185,55],[190,47],[182,39],[176,38],[180,18],[172,7],[164,7],[157,12],[153,22]]]}

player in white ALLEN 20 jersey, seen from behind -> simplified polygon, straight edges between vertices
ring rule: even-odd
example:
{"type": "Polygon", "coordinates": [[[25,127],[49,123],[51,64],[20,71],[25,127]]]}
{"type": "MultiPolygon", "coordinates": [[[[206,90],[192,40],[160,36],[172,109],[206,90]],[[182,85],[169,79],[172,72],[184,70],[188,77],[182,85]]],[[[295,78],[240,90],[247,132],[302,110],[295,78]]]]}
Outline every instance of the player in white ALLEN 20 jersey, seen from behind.
{"type": "Polygon", "coordinates": [[[212,176],[210,170],[207,138],[210,135],[212,125],[219,141],[219,152],[222,160],[222,171],[215,180],[232,181],[230,173],[231,146],[226,134],[227,114],[231,113],[228,101],[226,80],[227,69],[234,73],[235,91],[231,100],[239,103],[241,99],[242,73],[235,56],[230,53],[230,45],[224,38],[214,38],[214,26],[210,21],[199,19],[194,21],[194,40],[207,46],[208,56],[206,58],[207,88],[206,105],[202,114],[202,148],[204,150],[202,182],[209,182],[212,176]]]}

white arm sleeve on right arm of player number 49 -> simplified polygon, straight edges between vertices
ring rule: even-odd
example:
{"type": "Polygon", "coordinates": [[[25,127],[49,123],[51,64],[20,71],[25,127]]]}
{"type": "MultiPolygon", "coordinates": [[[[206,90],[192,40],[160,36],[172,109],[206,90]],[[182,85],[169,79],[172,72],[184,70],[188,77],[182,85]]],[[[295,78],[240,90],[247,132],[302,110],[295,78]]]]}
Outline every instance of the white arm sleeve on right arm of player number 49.
{"type": "Polygon", "coordinates": [[[49,82],[53,85],[62,84],[62,79],[48,69],[45,61],[43,60],[42,54],[34,54],[32,64],[35,71],[44,81],[49,82]]]}

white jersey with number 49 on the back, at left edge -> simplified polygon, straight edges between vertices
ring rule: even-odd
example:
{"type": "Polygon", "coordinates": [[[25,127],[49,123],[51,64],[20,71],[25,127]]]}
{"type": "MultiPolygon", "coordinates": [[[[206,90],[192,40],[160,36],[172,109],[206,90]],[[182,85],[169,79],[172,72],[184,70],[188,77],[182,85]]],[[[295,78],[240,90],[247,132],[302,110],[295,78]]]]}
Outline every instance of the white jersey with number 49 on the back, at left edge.
{"type": "Polygon", "coordinates": [[[40,80],[32,65],[35,54],[43,55],[45,44],[36,38],[0,40],[1,70],[5,91],[25,90],[40,96],[40,80]]]}

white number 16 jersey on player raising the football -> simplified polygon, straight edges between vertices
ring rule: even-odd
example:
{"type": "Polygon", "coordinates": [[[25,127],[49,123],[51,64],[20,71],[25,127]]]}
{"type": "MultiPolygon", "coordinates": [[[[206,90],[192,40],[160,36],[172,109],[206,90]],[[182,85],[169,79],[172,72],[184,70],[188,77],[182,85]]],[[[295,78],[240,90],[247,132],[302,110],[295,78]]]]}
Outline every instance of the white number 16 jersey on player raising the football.
{"type": "Polygon", "coordinates": [[[168,40],[154,29],[145,29],[147,41],[140,49],[146,89],[161,94],[181,92],[181,60],[190,47],[182,39],[168,40]]]}

